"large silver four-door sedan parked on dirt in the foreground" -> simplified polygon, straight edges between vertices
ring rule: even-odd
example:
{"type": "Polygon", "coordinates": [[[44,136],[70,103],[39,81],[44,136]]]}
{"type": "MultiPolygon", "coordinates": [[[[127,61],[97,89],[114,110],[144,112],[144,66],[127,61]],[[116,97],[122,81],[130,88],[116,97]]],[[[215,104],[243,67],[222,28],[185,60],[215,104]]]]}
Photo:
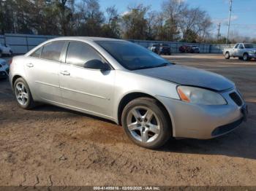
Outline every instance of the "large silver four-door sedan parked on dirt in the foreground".
{"type": "Polygon", "coordinates": [[[23,109],[45,102],[113,120],[150,149],[171,136],[222,136],[247,114],[229,79],[121,39],[50,39],[12,59],[10,84],[23,109]]]}

